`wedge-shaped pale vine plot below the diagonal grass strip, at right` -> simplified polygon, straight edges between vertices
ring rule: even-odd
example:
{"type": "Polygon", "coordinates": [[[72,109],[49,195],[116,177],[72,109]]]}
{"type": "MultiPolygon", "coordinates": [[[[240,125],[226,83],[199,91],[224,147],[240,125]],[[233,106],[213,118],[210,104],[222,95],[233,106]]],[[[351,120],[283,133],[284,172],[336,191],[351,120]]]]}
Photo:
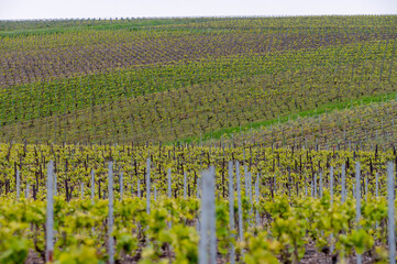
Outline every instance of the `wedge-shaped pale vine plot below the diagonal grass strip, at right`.
{"type": "MultiPolygon", "coordinates": [[[[360,105],[354,107],[350,107],[350,103],[341,105],[331,109],[333,111],[326,108],[318,112],[301,113],[304,117],[297,114],[285,120],[276,119],[266,127],[262,127],[261,122],[254,123],[250,130],[231,130],[229,135],[222,138],[222,144],[254,146],[267,143],[277,147],[386,151],[396,144],[397,103],[395,98],[387,96],[376,100],[367,99],[367,105],[363,105],[362,100],[356,101],[360,105]],[[253,130],[253,127],[258,129],[253,130]]],[[[212,139],[205,144],[219,145],[220,140],[212,139]]]]}

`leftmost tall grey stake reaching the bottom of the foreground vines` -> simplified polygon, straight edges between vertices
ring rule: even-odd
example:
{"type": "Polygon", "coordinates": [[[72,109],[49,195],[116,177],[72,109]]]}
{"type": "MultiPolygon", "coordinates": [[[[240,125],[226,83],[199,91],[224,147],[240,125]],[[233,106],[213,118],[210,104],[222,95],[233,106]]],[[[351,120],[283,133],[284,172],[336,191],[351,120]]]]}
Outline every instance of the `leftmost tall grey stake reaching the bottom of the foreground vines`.
{"type": "Polygon", "coordinates": [[[53,262],[54,253],[54,200],[53,200],[53,178],[54,163],[49,161],[47,167],[47,208],[45,222],[45,261],[53,262]]]}

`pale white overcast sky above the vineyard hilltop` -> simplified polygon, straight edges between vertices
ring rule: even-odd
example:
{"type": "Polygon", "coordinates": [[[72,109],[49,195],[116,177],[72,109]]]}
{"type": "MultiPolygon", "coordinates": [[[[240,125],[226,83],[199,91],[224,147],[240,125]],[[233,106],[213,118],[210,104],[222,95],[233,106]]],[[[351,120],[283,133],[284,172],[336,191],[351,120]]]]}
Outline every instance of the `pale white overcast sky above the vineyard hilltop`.
{"type": "Polygon", "coordinates": [[[397,0],[0,0],[0,20],[397,14],[397,0]]]}

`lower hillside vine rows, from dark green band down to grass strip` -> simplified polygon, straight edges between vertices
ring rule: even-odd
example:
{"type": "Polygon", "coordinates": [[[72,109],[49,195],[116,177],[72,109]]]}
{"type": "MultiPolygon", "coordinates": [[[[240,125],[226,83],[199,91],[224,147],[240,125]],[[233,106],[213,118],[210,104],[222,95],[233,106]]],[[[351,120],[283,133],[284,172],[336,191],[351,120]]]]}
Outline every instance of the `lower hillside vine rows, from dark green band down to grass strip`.
{"type": "MultiPolygon", "coordinates": [[[[298,55],[236,57],[206,63],[200,72],[195,72],[198,66],[192,65],[186,72],[191,76],[186,79],[178,77],[186,68],[173,66],[172,74],[166,75],[168,69],[161,67],[156,73],[158,78],[153,72],[147,73],[148,81],[136,75],[143,81],[132,78],[125,84],[119,80],[114,82],[114,90],[111,80],[106,78],[75,78],[74,82],[67,79],[66,84],[27,86],[19,95],[4,94],[1,112],[14,124],[4,122],[1,130],[5,139],[11,134],[14,140],[55,142],[144,142],[154,139],[167,142],[198,138],[213,130],[289,116],[362,96],[393,92],[397,78],[392,70],[394,53],[395,45],[389,42],[381,45],[379,42],[348,45],[343,51],[324,48],[298,55]],[[368,51],[368,58],[374,59],[354,58],[363,48],[368,51]],[[326,57],[329,53],[335,56],[326,57]],[[342,62],[337,54],[351,57],[342,62]],[[284,69],[287,62],[295,67],[284,69]],[[305,64],[311,67],[300,68],[305,64]],[[228,77],[229,73],[233,76],[228,77]],[[184,87],[194,78],[199,85],[184,87]],[[91,80],[93,82],[85,82],[91,80]],[[102,88],[98,89],[96,81],[100,81],[102,88]],[[134,85],[140,87],[139,84],[143,87],[141,91],[134,88],[134,85]],[[181,87],[173,89],[175,86],[181,87]],[[37,95],[38,89],[42,94],[37,95]],[[151,94],[139,96],[139,92],[151,94]],[[134,98],[129,99],[132,96],[134,98]],[[78,110],[86,106],[90,107],[78,110]]],[[[131,78],[131,75],[126,76],[131,78]]]]}

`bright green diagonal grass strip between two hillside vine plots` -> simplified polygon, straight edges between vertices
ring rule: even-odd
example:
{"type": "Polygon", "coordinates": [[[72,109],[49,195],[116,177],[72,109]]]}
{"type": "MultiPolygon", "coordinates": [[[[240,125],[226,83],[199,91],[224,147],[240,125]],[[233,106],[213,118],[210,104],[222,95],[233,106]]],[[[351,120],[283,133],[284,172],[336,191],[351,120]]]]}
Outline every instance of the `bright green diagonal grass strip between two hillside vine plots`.
{"type": "Polygon", "coordinates": [[[375,102],[390,101],[392,99],[395,99],[395,98],[397,98],[397,92],[392,94],[392,95],[362,97],[360,99],[354,99],[354,100],[350,100],[350,101],[326,103],[317,109],[306,110],[306,111],[293,113],[289,116],[283,116],[277,119],[253,122],[253,123],[245,124],[242,127],[224,128],[221,130],[208,132],[201,138],[186,138],[184,140],[168,142],[167,144],[174,144],[174,143],[178,143],[178,142],[190,143],[190,142],[209,141],[209,140],[217,140],[217,139],[219,140],[221,138],[224,139],[224,138],[230,136],[233,133],[240,133],[241,131],[247,132],[251,129],[257,130],[257,129],[262,129],[263,127],[269,127],[271,124],[275,124],[275,123],[282,124],[282,123],[288,122],[289,120],[296,120],[298,118],[318,117],[318,116],[321,116],[323,113],[329,113],[334,110],[344,110],[344,109],[351,109],[351,108],[357,107],[360,105],[371,105],[371,103],[375,103],[375,102]]]}

